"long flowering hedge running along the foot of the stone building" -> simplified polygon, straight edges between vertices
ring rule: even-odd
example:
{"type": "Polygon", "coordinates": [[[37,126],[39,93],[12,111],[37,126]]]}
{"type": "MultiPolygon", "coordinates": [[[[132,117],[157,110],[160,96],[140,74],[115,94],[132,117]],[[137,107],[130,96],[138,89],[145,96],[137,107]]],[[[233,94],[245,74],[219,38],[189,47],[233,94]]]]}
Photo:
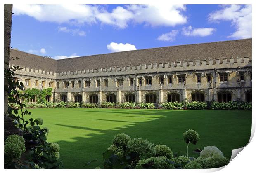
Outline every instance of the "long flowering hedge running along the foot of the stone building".
{"type": "MultiPolygon", "coordinates": [[[[24,103],[24,108],[123,108],[123,109],[154,109],[154,103],[78,103],[78,102],[47,102],[47,103],[24,103]]],[[[17,103],[8,103],[14,109],[20,109],[17,103]]],[[[159,109],[212,109],[212,110],[251,110],[251,102],[165,102],[159,104],[159,109]]]]}

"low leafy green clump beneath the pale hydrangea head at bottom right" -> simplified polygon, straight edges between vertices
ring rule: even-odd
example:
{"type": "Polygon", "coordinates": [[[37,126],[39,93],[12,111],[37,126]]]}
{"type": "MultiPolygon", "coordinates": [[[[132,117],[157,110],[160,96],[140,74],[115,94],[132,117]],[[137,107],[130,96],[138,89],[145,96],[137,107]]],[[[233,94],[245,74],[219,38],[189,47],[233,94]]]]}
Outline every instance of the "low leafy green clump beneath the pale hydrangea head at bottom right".
{"type": "Polygon", "coordinates": [[[195,159],[195,161],[199,163],[204,169],[219,168],[227,165],[229,162],[229,160],[225,157],[198,157],[197,159],[195,159]]]}

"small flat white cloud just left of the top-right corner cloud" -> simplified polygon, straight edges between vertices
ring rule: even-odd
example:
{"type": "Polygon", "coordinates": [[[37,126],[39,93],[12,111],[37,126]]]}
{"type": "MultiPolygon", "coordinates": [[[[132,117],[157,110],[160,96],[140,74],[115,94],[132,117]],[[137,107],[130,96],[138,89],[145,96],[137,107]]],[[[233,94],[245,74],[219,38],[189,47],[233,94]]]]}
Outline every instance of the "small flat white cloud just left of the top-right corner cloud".
{"type": "Polygon", "coordinates": [[[215,28],[192,28],[192,26],[183,27],[182,34],[186,36],[200,36],[205,37],[212,35],[215,28]]]}

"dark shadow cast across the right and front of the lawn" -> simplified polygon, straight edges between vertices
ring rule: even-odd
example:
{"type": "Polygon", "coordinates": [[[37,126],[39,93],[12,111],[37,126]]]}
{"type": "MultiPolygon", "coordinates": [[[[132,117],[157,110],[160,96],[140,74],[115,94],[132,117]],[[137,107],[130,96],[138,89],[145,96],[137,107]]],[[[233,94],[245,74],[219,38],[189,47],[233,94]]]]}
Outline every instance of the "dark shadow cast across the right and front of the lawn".
{"type": "MultiPolygon", "coordinates": [[[[90,111],[85,112],[101,112],[101,111],[90,111]]],[[[95,131],[100,134],[90,133],[83,137],[83,131],[80,137],[72,138],[74,142],[68,142],[65,140],[58,141],[61,150],[61,159],[64,162],[65,168],[83,168],[83,166],[93,160],[94,162],[85,168],[95,168],[96,166],[103,165],[102,153],[112,143],[112,138],[117,133],[126,133],[131,138],[144,138],[149,142],[157,144],[164,144],[169,146],[173,153],[180,152],[180,155],[186,154],[186,143],[183,141],[182,135],[188,129],[194,129],[199,133],[200,140],[197,145],[190,145],[189,156],[198,157],[192,151],[196,148],[203,149],[207,145],[218,147],[225,157],[230,158],[232,149],[243,147],[246,145],[250,138],[251,133],[251,115],[234,116],[232,112],[218,113],[216,111],[208,111],[207,114],[203,111],[183,111],[183,116],[174,116],[179,111],[136,111],[140,115],[159,115],[159,117],[147,117],[151,118],[146,121],[132,122],[119,120],[122,117],[130,117],[133,119],[145,116],[133,116],[134,112],[128,113],[122,112],[107,112],[106,113],[119,113],[119,114],[130,114],[130,116],[116,115],[117,120],[112,119],[95,119],[104,122],[124,122],[130,123],[126,125],[120,125],[120,127],[114,129],[97,129],[88,128],[86,124],[84,126],[72,126],[67,124],[54,125],[63,126],[72,129],[81,129],[84,131],[95,131]]],[[[101,112],[101,113],[102,113],[101,112]]],[[[105,116],[104,116],[105,118],[105,116]]]]}

